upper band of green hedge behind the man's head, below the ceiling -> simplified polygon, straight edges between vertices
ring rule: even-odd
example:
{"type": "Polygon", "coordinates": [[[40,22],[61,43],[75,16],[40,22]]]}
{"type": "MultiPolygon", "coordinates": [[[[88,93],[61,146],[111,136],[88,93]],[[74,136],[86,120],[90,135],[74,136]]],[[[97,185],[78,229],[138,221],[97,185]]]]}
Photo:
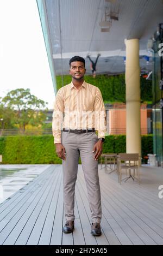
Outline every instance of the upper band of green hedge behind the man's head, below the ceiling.
{"type": "MultiPolygon", "coordinates": [[[[58,89],[62,86],[61,76],[57,76],[57,87],[58,89]]],[[[103,96],[104,102],[126,102],[126,85],[125,76],[108,76],[108,75],[97,75],[96,79],[90,75],[85,76],[85,81],[89,84],[97,86],[103,96]]],[[[70,84],[71,76],[64,75],[64,85],[70,84]]],[[[152,103],[152,81],[140,79],[141,83],[141,101],[146,103],[152,103]]]]}

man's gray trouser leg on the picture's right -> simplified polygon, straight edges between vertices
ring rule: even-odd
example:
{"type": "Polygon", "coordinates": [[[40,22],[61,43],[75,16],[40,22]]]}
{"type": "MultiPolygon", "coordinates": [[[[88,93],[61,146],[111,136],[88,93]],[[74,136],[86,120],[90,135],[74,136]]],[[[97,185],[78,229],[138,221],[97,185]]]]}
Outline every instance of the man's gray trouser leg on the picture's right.
{"type": "Polygon", "coordinates": [[[92,223],[101,223],[102,208],[101,208],[101,191],[98,177],[98,161],[93,157],[93,146],[97,142],[96,133],[80,134],[79,151],[82,160],[82,168],[86,181],[88,199],[91,209],[92,223]]]}

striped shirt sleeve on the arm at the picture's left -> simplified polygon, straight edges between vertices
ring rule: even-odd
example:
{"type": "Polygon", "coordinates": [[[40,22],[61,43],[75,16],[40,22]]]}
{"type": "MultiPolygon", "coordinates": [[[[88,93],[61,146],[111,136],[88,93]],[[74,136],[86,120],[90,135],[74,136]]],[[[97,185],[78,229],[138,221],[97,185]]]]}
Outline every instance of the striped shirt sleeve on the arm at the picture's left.
{"type": "Polygon", "coordinates": [[[54,136],[54,144],[61,143],[61,125],[64,113],[64,97],[61,88],[58,90],[54,102],[52,131],[54,136]]]}

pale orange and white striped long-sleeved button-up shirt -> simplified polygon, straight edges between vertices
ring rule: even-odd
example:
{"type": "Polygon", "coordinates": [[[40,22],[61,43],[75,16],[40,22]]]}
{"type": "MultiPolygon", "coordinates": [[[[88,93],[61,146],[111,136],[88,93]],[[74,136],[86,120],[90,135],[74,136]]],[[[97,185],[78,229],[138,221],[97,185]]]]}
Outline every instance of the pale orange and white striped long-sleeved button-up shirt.
{"type": "Polygon", "coordinates": [[[79,89],[72,82],[61,87],[55,98],[52,128],[54,144],[61,143],[62,128],[95,128],[98,138],[105,138],[106,112],[99,88],[85,81],[79,89]]]}

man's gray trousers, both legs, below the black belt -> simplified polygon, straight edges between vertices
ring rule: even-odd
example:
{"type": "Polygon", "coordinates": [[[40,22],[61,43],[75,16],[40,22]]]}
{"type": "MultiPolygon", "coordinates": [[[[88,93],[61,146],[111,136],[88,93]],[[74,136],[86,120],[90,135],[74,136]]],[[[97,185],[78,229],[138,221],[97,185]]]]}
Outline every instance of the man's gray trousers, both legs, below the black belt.
{"type": "Polygon", "coordinates": [[[98,138],[96,133],[61,133],[61,143],[66,150],[62,160],[64,207],[66,221],[74,221],[74,190],[78,173],[79,156],[87,187],[92,222],[101,223],[101,192],[98,177],[98,161],[93,158],[93,146],[98,138]]]}

